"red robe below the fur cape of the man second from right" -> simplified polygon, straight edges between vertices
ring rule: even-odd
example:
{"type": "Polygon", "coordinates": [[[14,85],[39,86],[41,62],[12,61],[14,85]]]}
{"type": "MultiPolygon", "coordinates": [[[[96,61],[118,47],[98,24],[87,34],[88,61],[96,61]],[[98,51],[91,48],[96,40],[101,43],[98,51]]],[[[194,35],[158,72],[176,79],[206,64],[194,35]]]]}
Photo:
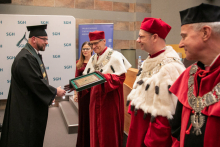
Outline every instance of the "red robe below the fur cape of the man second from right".
{"type": "MultiPolygon", "coordinates": [[[[161,50],[153,55],[154,58],[165,50],[161,50]]],[[[129,128],[129,134],[127,139],[126,147],[170,147],[172,144],[171,139],[171,128],[166,117],[157,116],[155,122],[151,123],[151,115],[148,114],[143,119],[143,110],[138,110],[137,115],[134,115],[134,111],[130,110],[128,113],[131,114],[131,124],[129,128]]]]}

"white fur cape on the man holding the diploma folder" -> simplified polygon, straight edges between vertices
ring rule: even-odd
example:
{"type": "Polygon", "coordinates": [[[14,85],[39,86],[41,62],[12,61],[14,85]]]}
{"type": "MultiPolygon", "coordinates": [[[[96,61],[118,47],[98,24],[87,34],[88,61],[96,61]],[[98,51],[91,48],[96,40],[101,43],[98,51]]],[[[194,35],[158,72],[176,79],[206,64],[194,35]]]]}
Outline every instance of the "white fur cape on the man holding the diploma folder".
{"type": "MultiPolygon", "coordinates": [[[[96,64],[102,63],[106,59],[108,52],[111,50],[112,50],[111,48],[107,48],[107,50],[101,56],[99,56],[98,61],[97,61],[97,54],[93,55],[89,59],[89,62],[86,65],[86,68],[83,72],[83,75],[87,74],[87,71],[89,68],[90,68],[89,73],[94,72],[95,68],[93,67],[92,62],[94,62],[96,64]],[[92,61],[93,57],[94,57],[94,61],[92,61]]],[[[121,74],[127,73],[127,70],[130,67],[131,67],[131,64],[128,62],[128,60],[121,53],[119,53],[117,51],[113,51],[109,62],[101,69],[102,69],[103,74],[110,73],[110,74],[115,74],[115,75],[120,76],[121,74]],[[111,69],[111,66],[114,68],[114,71],[115,71],[114,73],[111,69]]]]}

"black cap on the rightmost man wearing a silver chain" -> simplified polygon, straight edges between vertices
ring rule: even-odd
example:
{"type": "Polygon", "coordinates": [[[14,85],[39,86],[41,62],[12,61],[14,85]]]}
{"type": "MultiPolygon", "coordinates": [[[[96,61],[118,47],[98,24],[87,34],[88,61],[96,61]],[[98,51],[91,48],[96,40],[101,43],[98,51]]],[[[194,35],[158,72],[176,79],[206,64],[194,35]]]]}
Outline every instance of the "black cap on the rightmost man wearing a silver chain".
{"type": "Polygon", "coordinates": [[[218,22],[220,21],[220,7],[202,3],[180,11],[180,18],[181,26],[200,22],[218,22]]]}

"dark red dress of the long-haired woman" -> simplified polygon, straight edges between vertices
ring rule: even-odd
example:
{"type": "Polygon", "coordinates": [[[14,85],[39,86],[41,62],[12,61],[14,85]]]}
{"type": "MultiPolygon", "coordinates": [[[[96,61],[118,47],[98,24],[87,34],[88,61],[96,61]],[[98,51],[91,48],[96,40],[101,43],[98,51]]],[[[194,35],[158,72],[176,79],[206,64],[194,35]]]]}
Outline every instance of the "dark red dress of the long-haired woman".
{"type": "MultiPolygon", "coordinates": [[[[82,68],[76,68],[75,77],[82,75],[86,65],[87,63],[83,63],[82,68]]],[[[79,125],[76,147],[90,147],[89,102],[89,90],[85,89],[83,91],[80,91],[78,93],[79,125]]]]}

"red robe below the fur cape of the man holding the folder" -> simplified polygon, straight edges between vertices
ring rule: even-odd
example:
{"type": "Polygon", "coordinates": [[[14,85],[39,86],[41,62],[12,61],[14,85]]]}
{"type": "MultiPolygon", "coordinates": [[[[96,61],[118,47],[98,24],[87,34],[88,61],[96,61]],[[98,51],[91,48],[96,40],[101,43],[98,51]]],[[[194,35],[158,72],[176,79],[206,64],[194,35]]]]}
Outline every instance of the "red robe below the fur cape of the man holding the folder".
{"type": "Polygon", "coordinates": [[[122,147],[125,74],[104,74],[105,83],[91,88],[90,146],[122,147]]]}

